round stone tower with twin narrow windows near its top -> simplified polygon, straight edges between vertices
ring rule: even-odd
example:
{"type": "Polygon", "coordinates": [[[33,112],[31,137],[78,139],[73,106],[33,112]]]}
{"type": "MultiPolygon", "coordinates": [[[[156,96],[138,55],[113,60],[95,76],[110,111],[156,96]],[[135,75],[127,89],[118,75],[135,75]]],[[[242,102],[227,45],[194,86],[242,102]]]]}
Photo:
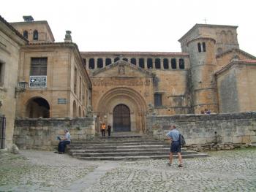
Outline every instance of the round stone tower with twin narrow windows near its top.
{"type": "Polygon", "coordinates": [[[190,57],[190,91],[192,93],[192,110],[195,113],[207,109],[218,112],[217,85],[214,72],[215,39],[199,37],[187,42],[190,57]]]}

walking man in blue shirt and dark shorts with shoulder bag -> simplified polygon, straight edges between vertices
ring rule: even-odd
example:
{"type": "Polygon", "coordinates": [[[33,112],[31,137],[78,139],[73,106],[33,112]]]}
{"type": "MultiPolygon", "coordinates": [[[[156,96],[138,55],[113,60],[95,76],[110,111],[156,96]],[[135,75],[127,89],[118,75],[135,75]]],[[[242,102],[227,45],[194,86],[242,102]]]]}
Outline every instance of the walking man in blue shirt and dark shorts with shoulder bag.
{"type": "Polygon", "coordinates": [[[170,126],[170,131],[166,134],[167,139],[170,140],[170,162],[169,166],[173,163],[173,153],[178,154],[178,167],[182,167],[182,158],[181,158],[181,145],[179,142],[179,131],[176,129],[176,126],[170,126]]]}

